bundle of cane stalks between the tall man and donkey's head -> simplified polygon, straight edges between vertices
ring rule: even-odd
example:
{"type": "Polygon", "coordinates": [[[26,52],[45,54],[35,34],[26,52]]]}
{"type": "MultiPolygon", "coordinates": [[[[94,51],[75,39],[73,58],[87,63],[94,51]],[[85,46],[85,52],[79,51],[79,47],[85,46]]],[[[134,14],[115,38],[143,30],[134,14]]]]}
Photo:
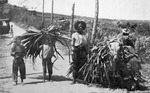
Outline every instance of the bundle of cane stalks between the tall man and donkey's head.
{"type": "Polygon", "coordinates": [[[110,54],[107,45],[98,44],[90,50],[88,61],[79,70],[83,81],[93,84],[109,84],[111,69],[110,54]]]}

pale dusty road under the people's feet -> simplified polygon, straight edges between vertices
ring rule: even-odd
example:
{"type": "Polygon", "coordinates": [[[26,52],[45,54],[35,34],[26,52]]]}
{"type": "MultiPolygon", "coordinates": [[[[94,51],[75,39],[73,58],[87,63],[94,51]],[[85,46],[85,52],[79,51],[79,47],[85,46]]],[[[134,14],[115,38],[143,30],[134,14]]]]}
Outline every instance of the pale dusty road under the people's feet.
{"type": "MultiPolygon", "coordinates": [[[[24,29],[14,25],[14,35],[20,35],[25,32],[24,29]]],[[[21,84],[13,86],[11,78],[12,69],[12,57],[10,56],[10,43],[11,38],[0,39],[0,93],[127,93],[126,90],[121,89],[108,89],[108,88],[96,88],[94,86],[87,86],[84,84],[71,85],[71,77],[66,77],[67,70],[69,68],[69,58],[62,51],[62,47],[58,48],[63,54],[65,60],[59,58],[55,62],[52,80],[42,83],[42,64],[38,58],[37,63],[34,66],[30,63],[30,60],[25,60],[27,78],[25,79],[25,85],[21,84]]],[[[149,71],[148,65],[145,66],[145,72],[149,71]]],[[[20,83],[20,81],[19,81],[20,83]]],[[[150,91],[134,91],[134,93],[150,93],[150,91]]]]}

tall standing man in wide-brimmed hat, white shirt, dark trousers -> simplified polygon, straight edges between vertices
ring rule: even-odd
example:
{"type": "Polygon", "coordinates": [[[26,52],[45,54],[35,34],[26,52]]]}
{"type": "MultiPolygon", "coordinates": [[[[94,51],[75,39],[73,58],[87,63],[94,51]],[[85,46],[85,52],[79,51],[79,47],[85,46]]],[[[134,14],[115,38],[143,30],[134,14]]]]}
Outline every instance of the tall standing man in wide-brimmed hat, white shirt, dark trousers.
{"type": "Polygon", "coordinates": [[[77,21],[74,25],[77,32],[72,34],[72,61],[73,61],[73,84],[76,83],[76,79],[79,78],[78,71],[87,61],[88,44],[87,35],[84,30],[86,23],[83,21],[77,21]]]}

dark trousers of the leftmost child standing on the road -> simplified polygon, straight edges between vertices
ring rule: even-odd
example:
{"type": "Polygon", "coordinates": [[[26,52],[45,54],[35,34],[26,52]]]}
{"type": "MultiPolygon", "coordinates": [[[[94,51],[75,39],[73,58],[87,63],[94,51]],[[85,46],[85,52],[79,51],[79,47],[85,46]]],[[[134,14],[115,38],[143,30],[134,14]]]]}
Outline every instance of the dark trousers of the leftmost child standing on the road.
{"type": "Polygon", "coordinates": [[[26,78],[26,68],[25,68],[25,63],[24,63],[23,58],[13,60],[12,71],[13,71],[13,80],[15,82],[18,81],[18,79],[17,79],[18,78],[18,71],[20,72],[21,80],[26,78]]]}

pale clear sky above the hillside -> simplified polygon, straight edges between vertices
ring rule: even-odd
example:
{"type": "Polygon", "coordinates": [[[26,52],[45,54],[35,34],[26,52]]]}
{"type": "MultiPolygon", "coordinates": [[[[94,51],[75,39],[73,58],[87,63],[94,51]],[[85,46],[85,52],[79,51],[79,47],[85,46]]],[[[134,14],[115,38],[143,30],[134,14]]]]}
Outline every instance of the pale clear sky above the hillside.
{"type": "MultiPolygon", "coordinates": [[[[51,1],[44,0],[44,11],[51,13],[51,1]]],[[[42,11],[43,0],[8,0],[10,4],[42,11]]],[[[54,13],[71,15],[75,3],[75,15],[94,17],[95,0],[54,0],[54,13]]],[[[150,20],[150,0],[99,0],[99,18],[150,20]]]]}

